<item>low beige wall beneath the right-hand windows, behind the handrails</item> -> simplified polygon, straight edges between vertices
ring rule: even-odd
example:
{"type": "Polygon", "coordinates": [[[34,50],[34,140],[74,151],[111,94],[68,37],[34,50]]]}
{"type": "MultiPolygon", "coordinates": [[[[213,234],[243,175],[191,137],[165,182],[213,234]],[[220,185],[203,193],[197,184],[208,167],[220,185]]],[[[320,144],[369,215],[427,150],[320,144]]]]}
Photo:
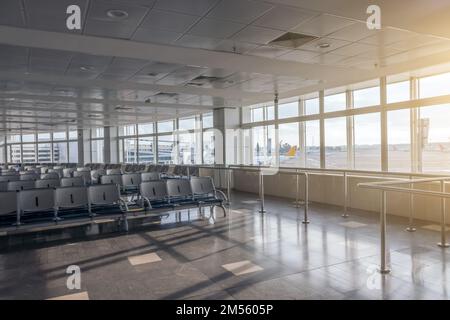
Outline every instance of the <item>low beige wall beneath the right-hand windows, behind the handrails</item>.
{"type": "MultiPolygon", "coordinates": [[[[299,199],[304,200],[304,176],[299,179],[299,199]]],[[[344,206],[344,177],[342,174],[309,173],[309,201],[344,206]]],[[[381,195],[377,190],[358,187],[358,183],[390,180],[386,177],[348,175],[348,206],[353,209],[379,212],[381,195]]],[[[296,176],[288,173],[264,176],[264,194],[294,200],[296,198],[296,176]]],[[[258,194],[258,173],[233,170],[232,187],[237,191],[258,194]]],[[[415,188],[439,191],[439,183],[417,183],[415,188]]],[[[450,192],[450,186],[446,187],[450,192]]],[[[428,196],[414,196],[414,218],[440,222],[440,199],[428,196]]],[[[447,206],[447,223],[450,223],[450,206],[447,206]]],[[[399,192],[387,193],[387,213],[408,217],[410,195],[399,192]]]]}

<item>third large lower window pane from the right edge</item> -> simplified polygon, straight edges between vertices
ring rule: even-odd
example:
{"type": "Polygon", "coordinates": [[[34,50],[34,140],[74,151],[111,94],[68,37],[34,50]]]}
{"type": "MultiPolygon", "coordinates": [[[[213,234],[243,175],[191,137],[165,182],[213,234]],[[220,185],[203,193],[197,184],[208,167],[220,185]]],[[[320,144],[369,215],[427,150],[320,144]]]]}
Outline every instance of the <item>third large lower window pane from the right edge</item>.
{"type": "Polygon", "coordinates": [[[355,169],[381,170],[380,114],[354,116],[355,169]]]}

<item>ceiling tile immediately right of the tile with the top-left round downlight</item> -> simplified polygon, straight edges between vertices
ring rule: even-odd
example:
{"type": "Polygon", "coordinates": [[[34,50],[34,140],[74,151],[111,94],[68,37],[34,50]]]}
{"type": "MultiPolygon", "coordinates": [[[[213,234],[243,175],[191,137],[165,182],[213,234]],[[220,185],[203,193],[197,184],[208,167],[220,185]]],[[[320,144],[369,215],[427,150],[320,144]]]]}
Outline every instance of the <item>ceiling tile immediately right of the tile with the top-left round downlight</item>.
{"type": "Polygon", "coordinates": [[[199,20],[199,18],[199,16],[154,9],[147,14],[140,27],[171,32],[184,32],[199,20]]]}

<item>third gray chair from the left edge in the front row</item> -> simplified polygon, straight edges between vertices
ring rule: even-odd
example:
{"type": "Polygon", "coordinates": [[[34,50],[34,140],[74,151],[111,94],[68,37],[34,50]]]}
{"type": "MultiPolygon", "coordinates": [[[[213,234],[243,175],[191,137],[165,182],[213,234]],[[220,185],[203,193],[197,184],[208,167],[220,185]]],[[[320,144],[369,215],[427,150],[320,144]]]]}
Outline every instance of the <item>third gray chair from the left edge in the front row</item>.
{"type": "Polygon", "coordinates": [[[55,189],[55,220],[65,210],[86,209],[90,214],[87,187],[58,187],[55,189]]]}

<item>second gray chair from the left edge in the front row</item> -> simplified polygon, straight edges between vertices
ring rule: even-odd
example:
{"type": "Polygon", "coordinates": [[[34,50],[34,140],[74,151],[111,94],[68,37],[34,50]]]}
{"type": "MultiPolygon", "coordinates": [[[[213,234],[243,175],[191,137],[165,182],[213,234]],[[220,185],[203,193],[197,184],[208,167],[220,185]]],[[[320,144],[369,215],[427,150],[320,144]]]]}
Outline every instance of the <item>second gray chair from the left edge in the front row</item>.
{"type": "Polygon", "coordinates": [[[32,189],[22,190],[18,193],[18,209],[16,224],[21,224],[21,219],[26,213],[53,212],[55,216],[55,190],[32,189]]]}

